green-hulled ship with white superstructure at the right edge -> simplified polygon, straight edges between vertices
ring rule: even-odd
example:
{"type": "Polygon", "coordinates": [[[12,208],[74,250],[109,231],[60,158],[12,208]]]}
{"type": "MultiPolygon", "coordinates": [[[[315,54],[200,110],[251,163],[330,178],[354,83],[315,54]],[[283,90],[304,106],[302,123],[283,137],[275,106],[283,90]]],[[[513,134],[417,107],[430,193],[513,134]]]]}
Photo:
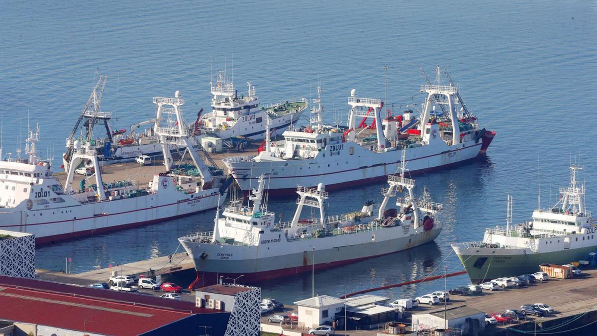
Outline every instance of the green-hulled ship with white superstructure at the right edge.
{"type": "Polygon", "coordinates": [[[508,197],[505,227],[485,229],[481,242],[452,244],[470,280],[519,276],[539,271],[539,264],[568,264],[597,251],[597,227],[584,204],[584,185],[578,166],[570,166],[570,187],[559,188],[560,198],[549,209],[533,212],[532,220],[512,225],[512,198],[508,197]]]}

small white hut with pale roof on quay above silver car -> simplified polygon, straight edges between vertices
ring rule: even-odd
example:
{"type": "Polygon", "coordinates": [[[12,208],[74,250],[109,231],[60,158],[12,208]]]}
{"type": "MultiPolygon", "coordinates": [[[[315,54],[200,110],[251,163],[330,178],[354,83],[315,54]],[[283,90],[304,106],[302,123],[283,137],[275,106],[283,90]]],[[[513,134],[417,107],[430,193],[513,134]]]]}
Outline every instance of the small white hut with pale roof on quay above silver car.
{"type": "Polygon", "coordinates": [[[298,325],[314,328],[331,321],[343,309],[344,300],[330,295],[318,295],[294,304],[298,307],[298,325]]]}

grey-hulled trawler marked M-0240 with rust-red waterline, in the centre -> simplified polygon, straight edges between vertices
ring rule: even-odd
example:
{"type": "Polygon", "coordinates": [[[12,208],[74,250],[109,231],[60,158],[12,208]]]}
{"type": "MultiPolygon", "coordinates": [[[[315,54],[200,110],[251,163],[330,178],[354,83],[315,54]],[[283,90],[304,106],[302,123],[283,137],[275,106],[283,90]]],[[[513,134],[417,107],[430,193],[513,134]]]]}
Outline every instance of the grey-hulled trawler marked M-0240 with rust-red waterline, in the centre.
{"type": "Polygon", "coordinates": [[[264,203],[266,176],[249,200],[252,206],[233,204],[223,218],[216,218],[214,230],[179,238],[192,257],[197,279],[189,288],[217,282],[217,276],[238,277],[248,283],[290,276],[312,268],[321,269],[413,248],[435,239],[442,230],[438,220],[442,205],[428,194],[415,198],[415,181],[402,176],[387,178],[383,202],[373,211],[368,201],[361,211],[328,216],[323,184],[317,188],[297,187],[297,209],[290,222],[275,222],[275,214],[264,203]],[[397,208],[386,209],[391,197],[397,208]],[[301,219],[304,206],[319,209],[318,218],[301,219]]]}

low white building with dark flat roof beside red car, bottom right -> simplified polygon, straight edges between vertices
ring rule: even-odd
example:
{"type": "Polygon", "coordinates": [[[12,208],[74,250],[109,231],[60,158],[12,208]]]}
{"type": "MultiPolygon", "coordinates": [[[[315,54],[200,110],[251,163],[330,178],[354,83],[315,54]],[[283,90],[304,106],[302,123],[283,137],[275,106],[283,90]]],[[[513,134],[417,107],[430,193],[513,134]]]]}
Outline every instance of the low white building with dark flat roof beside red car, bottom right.
{"type": "MultiPolygon", "coordinates": [[[[419,329],[444,328],[444,308],[413,313],[413,326],[419,329]]],[[[466,305],[445,310],[445,325],[460,329],[461,335],[478,335],[485,331],[485,313],[466,305]]]]}

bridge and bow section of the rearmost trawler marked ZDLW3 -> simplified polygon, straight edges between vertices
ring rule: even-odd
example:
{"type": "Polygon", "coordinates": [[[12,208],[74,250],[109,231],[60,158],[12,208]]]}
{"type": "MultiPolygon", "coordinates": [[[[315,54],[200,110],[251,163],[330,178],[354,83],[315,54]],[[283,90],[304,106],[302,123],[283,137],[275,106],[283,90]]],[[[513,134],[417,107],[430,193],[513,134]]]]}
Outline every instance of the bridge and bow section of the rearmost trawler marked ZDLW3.
{"type": "Polygon", "coordinates": [[[296,123],[309,105],[306,99],[301,98],[260,107],[254,85],[248,82],[247,94],[239,96],[224,71],[219,71],[216,83],[212,81],[210,84],[213,111],[201,115],[196,127],[201,133],[213,134],[221,139],[263,139],[266,118],[271,120],[270,131],[276,129],[282,132],[296,123]]]}

